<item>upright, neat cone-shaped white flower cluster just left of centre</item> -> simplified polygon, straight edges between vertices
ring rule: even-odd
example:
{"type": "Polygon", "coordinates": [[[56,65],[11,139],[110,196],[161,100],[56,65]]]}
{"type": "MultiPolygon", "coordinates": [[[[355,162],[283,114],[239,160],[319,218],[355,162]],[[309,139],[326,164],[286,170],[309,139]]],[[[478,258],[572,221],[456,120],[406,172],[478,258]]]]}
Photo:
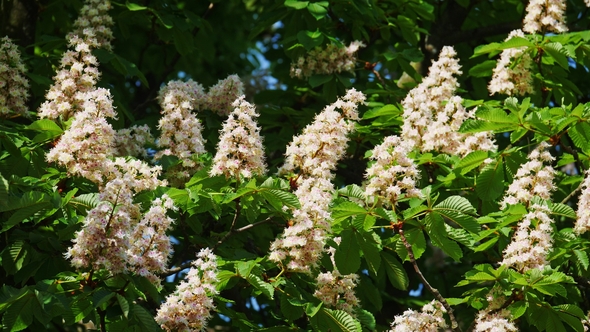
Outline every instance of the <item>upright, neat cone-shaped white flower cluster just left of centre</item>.
{"type": "Polygon", "coordinates": [[[260,128],[255,122],[258,113],[243,95],[234,101],[233,106],[234,111],[223,123],[210,174],[225,175],[226,178],[264,175],[264,147],[260,128]]]}

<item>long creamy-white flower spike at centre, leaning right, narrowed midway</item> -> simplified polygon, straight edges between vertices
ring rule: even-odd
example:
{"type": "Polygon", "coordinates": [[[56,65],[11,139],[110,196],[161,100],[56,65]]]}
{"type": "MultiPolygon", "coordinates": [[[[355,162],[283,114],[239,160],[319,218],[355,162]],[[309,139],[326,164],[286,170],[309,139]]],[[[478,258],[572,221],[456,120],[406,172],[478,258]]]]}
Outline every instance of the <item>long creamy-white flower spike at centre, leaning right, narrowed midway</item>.
{"type": "Polygon", "coordinates": [[[293,225],[271,244],[269,259],[281,262],[289,258],[289,270],[310,272],[324,251],[331,231],[332,171],[346,151],[347,135],[354,129],[351,120],[358,119],[357,108],[364,101],[362,93],[348,90],[343,99],[327,106],[287,147],[286,161],[279,172],[298,172],[295,195],[301,208],[293,211],[293,225]]]}

